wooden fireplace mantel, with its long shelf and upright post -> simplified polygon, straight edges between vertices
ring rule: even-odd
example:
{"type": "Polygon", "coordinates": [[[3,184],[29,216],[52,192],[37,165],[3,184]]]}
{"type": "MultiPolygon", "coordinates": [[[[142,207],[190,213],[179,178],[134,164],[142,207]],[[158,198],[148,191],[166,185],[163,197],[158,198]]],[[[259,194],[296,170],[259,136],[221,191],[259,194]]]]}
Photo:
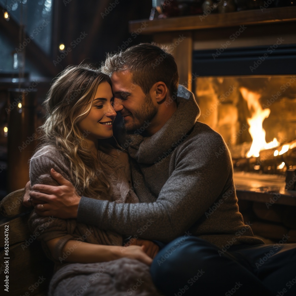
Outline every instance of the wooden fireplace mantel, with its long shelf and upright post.
{"type": "Polygon", "coordinates": [[[189,90],[192,90],[192,51],[219,48],[221,43],[229,40],[229,36],[240,26],[246,26],[247,30],[229,48],[270,45],[283,36],[284,43],[296,44],[296,7],[129,22],[131,33],[152,34],[156,43],[165,44],[173,49],[172,54],[178,66],[180,83],[189,90]],[[185,38],[178,42],[180,36],[185,38]]]}

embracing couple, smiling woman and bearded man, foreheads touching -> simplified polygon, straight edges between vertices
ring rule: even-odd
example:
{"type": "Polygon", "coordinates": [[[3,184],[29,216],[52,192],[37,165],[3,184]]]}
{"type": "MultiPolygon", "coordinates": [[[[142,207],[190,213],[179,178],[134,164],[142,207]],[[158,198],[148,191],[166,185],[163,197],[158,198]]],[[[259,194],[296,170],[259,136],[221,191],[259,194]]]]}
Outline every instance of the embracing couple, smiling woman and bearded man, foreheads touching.
{"type": "Polygon", "coordinates": [[[292,272],[285,245],[254,269],[272,246],[244,224],[229,150],[178,81],[166,49],[139,44],[52,84],[24,195],[30,229],[47,223],[50,295],[273,295],[292,272]]]}

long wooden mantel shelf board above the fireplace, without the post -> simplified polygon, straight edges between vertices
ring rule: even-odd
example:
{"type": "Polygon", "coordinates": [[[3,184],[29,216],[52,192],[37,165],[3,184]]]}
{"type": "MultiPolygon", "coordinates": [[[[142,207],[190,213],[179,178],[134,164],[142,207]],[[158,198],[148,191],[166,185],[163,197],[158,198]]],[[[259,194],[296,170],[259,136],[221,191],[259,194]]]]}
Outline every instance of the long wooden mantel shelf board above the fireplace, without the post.
{"type": "Polygon", "coordinates": [[[210,13],[207,16],[193,15],[186,17],[171,17],[161,20],[136,20],[129,22],[129,31],[139,28],[141,22],[147,22],[148,26],[142,34],[151,34],[168,31],[200,30],[209,28],[225,28],[240,25],[256,25],[263,23],[295,22],[296,7],[268,8],[243,10],[224,14],[210,13]]]}

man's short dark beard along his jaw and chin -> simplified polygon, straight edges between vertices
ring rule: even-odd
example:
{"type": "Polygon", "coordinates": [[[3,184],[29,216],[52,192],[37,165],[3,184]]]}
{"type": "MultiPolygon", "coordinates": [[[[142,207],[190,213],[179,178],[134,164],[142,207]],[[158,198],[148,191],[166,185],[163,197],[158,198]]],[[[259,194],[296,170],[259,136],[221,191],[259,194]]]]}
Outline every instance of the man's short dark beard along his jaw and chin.
{"type": "Polygon", "coordinates": [[[137,112],[133,112],[133,114],[131,115],[132,122],[128,124],[125,123],[126,131],[128,133],[133,133],[138,129],[143,131],[143,128],[145,128],[144,124],[147,128],[147,124],[149,126],[149,123],[151,123],[151,120],[152,118],[154,118],[156,113],[157,107],[153,105],[151,96],[150,94],[148,94],[145,97],[145,101],[144,104],[141,106],[141,109],[137,112]]]}

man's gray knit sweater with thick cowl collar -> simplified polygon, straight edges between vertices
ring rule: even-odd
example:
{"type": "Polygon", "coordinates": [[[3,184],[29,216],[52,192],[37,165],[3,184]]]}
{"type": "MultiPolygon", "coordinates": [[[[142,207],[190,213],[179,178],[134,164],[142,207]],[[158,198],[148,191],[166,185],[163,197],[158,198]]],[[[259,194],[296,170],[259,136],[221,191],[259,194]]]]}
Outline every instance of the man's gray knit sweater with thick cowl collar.
{"type": "Polygon", "coordinates": [[[263,244],[239,213],[231,157],[221,135],[197,121],[199,107],[183,86],[177,102],[177,111],[153,136],[126,138],[137,162],[132,178],[140,203],[82,197],[77,220],[163,242],[192,234],[221,248],[230,241],[263,244]]]}

